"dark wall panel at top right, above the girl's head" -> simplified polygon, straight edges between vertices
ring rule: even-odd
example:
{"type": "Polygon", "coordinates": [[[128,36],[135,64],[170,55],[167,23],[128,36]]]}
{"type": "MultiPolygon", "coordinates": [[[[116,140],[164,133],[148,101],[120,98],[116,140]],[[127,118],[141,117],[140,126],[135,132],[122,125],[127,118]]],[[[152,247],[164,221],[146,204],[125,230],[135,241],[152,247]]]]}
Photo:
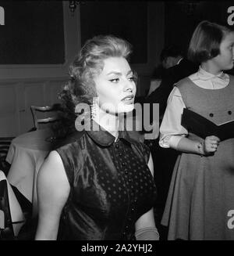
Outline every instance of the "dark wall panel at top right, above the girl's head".
{"type": "MultiPolygon", "coordinates": [[[[195,27],[201,20],[220,23],[231,29],[227,22],[229,6],[233,1],[175,1],[165,2],[165,45],[178,44],[187,49],[195,27]]],[[[234,19],[233,19],[234,20],[234,19]]]]}

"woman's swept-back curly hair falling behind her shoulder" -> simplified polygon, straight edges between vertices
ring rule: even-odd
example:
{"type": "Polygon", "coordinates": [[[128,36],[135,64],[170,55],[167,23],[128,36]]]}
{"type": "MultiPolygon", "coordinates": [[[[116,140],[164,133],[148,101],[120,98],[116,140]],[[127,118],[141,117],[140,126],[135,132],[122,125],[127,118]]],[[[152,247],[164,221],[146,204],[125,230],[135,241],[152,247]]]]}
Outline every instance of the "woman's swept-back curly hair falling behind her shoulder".
{"type": "Polygon", "coordinates": [[[64,138],[76,131],[76,105],[90,105],[97,96],[94,78],[103,70],[104,60],[109,57],[129,60],[131,52],[132,45],[128,41],[112,35],[98,35],[85,42],[69,67],[69,81],[58,93],[61,108],[58,110],[59,121],[53,126],[57,138],[64,138]]]}

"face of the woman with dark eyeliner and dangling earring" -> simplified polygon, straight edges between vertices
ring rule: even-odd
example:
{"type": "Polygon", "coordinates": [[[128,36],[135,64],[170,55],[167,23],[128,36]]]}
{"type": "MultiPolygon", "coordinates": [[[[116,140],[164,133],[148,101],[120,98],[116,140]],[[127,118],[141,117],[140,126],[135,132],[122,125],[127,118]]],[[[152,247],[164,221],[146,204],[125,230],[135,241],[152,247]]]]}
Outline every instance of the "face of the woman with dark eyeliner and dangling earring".
{"type": "Polygon", "coordinates": [[[133,110],[136,84],[129,63],[122,57],[104,60],[101,74],[94,78],[98,104],[110,114],[128,113],[133,110]]]}

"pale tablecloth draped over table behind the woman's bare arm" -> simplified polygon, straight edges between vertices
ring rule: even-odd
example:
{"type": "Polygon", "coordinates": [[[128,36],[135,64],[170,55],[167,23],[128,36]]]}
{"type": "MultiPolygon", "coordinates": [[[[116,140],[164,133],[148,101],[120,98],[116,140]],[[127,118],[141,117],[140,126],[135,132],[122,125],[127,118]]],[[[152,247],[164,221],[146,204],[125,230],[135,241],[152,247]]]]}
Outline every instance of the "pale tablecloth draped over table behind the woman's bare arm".
{"type": "Polygon", "coordinates": [[[37,215],[37,172],[51,150],[51,130],[27,132],[12,140],[6,160],[11,164],[7,179],[33,204],[37,215]]]}

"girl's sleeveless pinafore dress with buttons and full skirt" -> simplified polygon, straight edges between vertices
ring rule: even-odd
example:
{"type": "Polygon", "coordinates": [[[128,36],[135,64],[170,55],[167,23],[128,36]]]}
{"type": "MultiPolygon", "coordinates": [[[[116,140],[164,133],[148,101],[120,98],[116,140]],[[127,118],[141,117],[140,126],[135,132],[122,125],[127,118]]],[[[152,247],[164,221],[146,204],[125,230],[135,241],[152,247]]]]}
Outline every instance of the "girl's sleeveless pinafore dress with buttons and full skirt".
{"type": "MultiPolygon", "coordinates": [[[[215,124],[234,120],[234,78],[221,89],[205,89],[184,78],[176,85],[186,108],[215,124]]],[[[189,139],[201,141],[189,132],[189,139]]],[[[168,240],[234,240],[234,139],[213,156],[181,153],[176,160],[162,225],[168,240]]]]}

